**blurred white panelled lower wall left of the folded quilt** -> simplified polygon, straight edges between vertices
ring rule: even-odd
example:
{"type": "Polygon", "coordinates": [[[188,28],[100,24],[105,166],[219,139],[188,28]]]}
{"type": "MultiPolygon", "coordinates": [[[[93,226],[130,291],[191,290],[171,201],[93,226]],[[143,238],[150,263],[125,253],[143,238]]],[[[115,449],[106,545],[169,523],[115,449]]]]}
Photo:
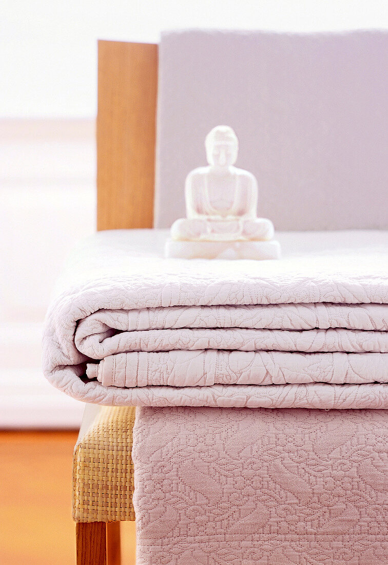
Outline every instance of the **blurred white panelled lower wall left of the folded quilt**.
{"type": "Polygon", "coordinates": [[[77,427],[41,370],[51,288],[95,229],[93,120],[0,120],[0,427],[77,427]]]}

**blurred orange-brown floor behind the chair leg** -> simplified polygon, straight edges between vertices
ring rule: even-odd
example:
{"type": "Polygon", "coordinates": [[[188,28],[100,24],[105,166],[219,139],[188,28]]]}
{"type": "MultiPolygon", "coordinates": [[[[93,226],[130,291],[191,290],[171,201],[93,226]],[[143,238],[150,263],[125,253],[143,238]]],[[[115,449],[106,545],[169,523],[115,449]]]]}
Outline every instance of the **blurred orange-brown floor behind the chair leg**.
{"type": "MultiPolygon", "coordinates": [[[[75,563],[71,466],[77,432],[0,431],[0,565],[75,563]]],[[[134,564],[134,523],[121,524],[134,564]]]]}

